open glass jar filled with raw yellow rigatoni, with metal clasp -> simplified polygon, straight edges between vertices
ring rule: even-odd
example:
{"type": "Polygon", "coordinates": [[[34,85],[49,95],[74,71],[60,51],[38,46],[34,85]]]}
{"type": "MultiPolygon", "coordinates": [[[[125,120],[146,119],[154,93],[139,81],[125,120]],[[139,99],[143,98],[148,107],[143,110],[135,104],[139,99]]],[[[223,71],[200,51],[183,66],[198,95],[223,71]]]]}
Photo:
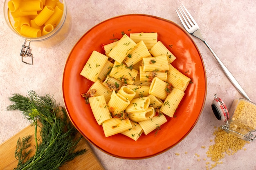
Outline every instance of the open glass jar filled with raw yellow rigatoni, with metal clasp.
{"type": "Polygon", "coordinates": [[[65,40],[70,30],[70,16],[65,0],[5,0],[4,18],[9,28],[25,40],[20,56],[33,65],[30,43],[52,48],[65,40]]]}

